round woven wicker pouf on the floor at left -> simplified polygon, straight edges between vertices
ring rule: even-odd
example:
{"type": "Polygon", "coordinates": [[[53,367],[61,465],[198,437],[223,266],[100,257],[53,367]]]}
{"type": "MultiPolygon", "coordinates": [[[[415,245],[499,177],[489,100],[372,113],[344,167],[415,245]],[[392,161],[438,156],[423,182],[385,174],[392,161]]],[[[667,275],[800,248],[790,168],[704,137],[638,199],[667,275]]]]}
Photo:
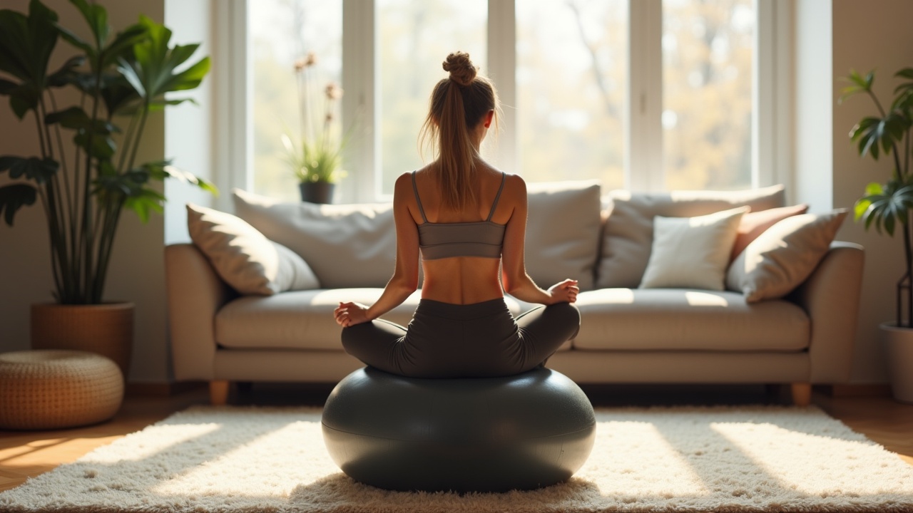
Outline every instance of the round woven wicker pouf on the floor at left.
{"type": "Polygon", "coordinates": [[[117,413],[123,375],[85,351],[0,354],[0,429],[58,429],[96,424],[117,413]]]}

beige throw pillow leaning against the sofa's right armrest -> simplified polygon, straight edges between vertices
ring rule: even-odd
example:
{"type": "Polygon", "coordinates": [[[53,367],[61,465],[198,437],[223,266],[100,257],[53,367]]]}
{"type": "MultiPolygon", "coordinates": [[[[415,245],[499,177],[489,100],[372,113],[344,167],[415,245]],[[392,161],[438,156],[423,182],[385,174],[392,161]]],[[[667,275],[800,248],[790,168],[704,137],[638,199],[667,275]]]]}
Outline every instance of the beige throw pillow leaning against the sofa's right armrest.
{"type": "Polygon", "coordinates": [[[808,278],[827,253],[846,210],[787,217],[764,231],[729,266],[726,287],[748,302],[782,298],[808,278]]]}

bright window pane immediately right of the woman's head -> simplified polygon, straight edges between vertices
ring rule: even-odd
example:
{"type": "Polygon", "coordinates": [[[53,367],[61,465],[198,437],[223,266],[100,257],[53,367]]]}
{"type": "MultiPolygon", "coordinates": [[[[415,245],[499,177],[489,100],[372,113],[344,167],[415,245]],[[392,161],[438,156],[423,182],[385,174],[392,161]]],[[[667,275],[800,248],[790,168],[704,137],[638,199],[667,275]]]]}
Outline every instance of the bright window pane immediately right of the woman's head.
{"type": "Polygon", "coordinates": [[[627,2],[517,2],[518,173],[624,186],[627,2]]]}

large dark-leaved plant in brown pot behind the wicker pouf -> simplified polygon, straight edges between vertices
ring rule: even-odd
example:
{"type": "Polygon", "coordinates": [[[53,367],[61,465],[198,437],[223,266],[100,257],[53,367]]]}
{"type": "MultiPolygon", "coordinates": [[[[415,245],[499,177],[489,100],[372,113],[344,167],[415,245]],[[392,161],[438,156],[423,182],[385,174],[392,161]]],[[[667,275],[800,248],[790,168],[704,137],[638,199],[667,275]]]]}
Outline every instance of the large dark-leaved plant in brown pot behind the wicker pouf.
{"type": "Polygon", "coordinates": [[[168,161],[138,162],[137,152],[149,116],[189,100],[165,93],[196,88],[210,64],[202,58],[178,70],[199,45],[169,46],[171,31],[145,16],[113,34],[104,7],[71,3],[89,40],[38,0],[27,16],[0,10],[0,95],[19,120],[34,119],[40,143],[38,155],[0,156],[0,173],[12,179],[0,187],[0,214],[12,226],[20,208],[40,200],[47,219],[55,303],[33,305],[32,347],[100,352],[126,376],[133,305],[103,298],[121,212],[142,221],[162,212],[165,198],[151,184],[167,177],[215,192],[168,161]],[[59,39],[76,52],[48,69],[59,39]],[[67,93],[77,101],[58,103],[67,93]]]}

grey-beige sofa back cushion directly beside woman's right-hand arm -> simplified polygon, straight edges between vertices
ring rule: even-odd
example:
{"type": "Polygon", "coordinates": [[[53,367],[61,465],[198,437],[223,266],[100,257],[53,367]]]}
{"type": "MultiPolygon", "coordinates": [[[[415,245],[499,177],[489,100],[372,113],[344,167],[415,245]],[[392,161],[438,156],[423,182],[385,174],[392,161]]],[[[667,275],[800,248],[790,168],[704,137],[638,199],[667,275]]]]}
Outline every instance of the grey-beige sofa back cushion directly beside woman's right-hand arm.
{"type": "Polygon", "coordinates": [[[572,278],[593,290],[599,252],[597,181],[527,183],[526,270],[541,288],[572,278]]]}

